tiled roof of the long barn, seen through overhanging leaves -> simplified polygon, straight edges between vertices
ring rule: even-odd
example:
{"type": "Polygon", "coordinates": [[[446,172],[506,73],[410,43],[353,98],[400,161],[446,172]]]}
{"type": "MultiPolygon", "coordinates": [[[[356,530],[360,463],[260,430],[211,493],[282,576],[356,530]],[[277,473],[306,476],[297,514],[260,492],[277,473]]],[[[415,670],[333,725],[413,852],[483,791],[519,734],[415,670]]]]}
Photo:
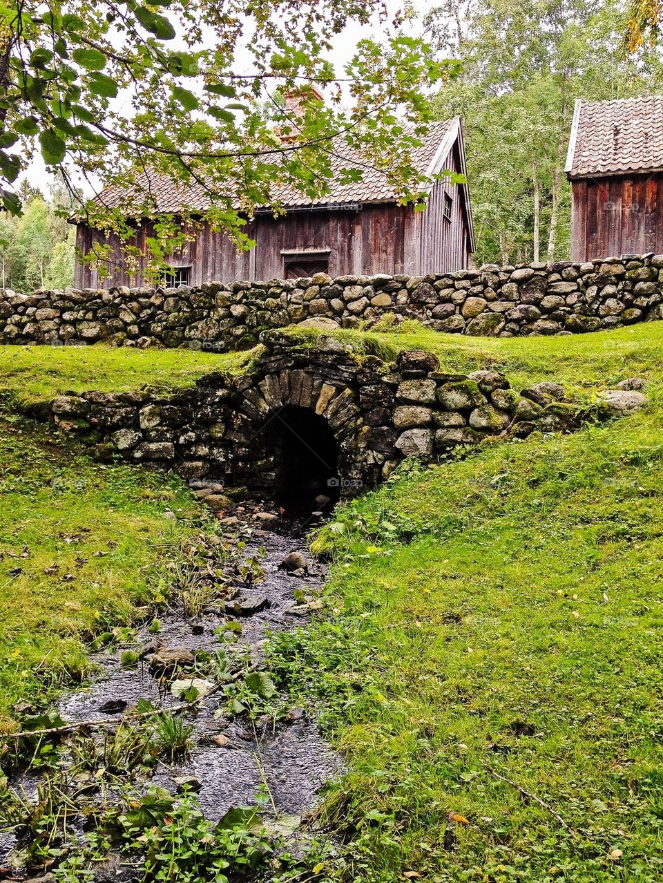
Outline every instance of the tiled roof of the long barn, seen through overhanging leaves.
{"type": "MultiPolygon", "coordinates": [[[[430,170],[433,160],[441,161],[445,156],[438,155],[441,145],[447,136],[456,131],[457,117],[446,120],[443,123],[432,123],[428,126],[428,136],[423,140],[421,147],[415,147],[411,152],[412,163],[418,172],[426,175],[430,170]]],[[[451,145],[449,145],[451,147],[451,145]]],[[[446,151],[445,151],[446,153],[446,151]]],[[[388,183],[384,172],[375,169],[356,152],[350,150],[343,140],[335,141],[334,155],[331,157],[332,183],[331,192],[318,200],[311,200],[305,194],[297,192],[290,186],[277,186],[272,193],[274,203],[283,205],[284,208],[309,207],[315,205],[328,205],[330,202],[380,202],[396,200],[396,193],[388,183]],[[343,169],[361,169],[363,178],[361,181],[351,184],[334,183],[343,169]]],[[[209,208],[210,196],[202,185],[194,184],[184,186],[177,180],[159,173],[143,172],[132,187],[136,199],[136,205],[145,201],[145,196],[150,194],[154,202],[154,211],[165,214],[177,214],[182,210],[204,211],[209,208]]],[[[96,197],[109,208],[127,208],[127,214],[132,214],[132,192],[121,185],[107,187],[96,197]]]]}

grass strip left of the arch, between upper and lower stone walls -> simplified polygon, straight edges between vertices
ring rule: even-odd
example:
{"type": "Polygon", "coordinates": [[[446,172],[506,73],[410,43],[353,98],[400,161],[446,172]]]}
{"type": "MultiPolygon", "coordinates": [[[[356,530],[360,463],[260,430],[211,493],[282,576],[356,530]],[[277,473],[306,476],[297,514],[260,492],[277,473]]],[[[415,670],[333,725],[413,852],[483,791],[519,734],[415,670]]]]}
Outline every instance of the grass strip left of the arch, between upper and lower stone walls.
{"type": "Polygon", "coordinates": [[[0,346],[0,395],[9,394],[21,404],[31,404],[68,390],[126,392],[146,386],[181,389],[192,386],[203,374],[237,370],[247,358],[246,352],[218,355],[101,344],[0,346]]]}

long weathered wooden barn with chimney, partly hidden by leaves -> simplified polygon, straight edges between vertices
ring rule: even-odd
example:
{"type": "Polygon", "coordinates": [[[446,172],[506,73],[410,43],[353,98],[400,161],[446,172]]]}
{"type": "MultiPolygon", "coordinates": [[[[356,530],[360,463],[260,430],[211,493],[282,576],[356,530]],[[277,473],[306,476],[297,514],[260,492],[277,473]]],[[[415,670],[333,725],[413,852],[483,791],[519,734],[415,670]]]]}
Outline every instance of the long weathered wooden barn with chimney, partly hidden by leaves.
{"type": "MultiPolygon", "coordinates": [[[[465,174],[460,118],[430,125],[424,143],[413,153],[417,169],[426,176],[443,170],[465,174]]],[[[347,148],[335,159],[339,170],[351,162],[347,148]]],[[[146,185],[154,194],[158,211],[176,216],[182,211],[182,193],[170,179],[155,176],[146,185]]],[[[275,218],[269,209],[255,213],[247,227],[257,243],[251,251],[238,253],[223,233],[201,224],[185,250],[171,256],[170,284],[292,278],[320,271],[335,276],[424,275],[470,265],[474,250],[470,193],[466,184],[452,184],[448,177],[432,185],[426,209],[421,212],[399,206],[396,192],[377,169],[364,170],[358,183],[333,186],[323,200],[305,201],[294,192],[276,195],[285,214],[275,218]]],[[[107,204],[121,205],[123,192],[109,188],[101,198],[107,204]]],[[[197,198],[197,208],[207,208],[205,193],[197,198]]],[[[191,192],[186,200],[192,206],[191,192]]],[[[151,230],[149,218],[139,219],[136,245],[142,248],[151,230]]],[[[109,275],[102,278],[93,264],[77,261],[78,287],[109,288],[140,282],[139,277],[126,274],[117,236],[107,238],[86,223],[78,223],[80,252],[89,253],[97,242],[112,246],[109,275]]]]}

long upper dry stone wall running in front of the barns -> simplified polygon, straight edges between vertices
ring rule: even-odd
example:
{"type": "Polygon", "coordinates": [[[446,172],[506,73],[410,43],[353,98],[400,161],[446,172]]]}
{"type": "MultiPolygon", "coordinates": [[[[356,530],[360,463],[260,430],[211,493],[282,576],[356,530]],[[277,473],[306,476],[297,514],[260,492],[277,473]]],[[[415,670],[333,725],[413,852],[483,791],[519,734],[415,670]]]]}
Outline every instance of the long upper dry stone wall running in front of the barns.
{"type": "Polygon", "coordinates": [[[0,343],[226,351],[291,324],[370,327],[385,313],[454,334],[576,334],[663,318],[663,255],[486,265],[447,275],[204,283],[200,288],[0,291],[0,343]]]}

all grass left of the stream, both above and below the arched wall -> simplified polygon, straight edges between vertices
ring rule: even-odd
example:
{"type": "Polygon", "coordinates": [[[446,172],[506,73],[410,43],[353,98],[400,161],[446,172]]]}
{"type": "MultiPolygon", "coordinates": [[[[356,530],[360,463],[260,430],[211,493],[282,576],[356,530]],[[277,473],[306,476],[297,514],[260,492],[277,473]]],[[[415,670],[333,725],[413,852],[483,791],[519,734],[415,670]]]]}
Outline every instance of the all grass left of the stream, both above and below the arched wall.
{"type": "Polygon", "coordinates": [[[87,671],[89,638],[130,623],[193,514],[181,479],[95,464],[15,406],[67,391],[165,391],[247,356],[185,350],[0,347],[0,732],[15,703],[43,704],[87,671]]]}

